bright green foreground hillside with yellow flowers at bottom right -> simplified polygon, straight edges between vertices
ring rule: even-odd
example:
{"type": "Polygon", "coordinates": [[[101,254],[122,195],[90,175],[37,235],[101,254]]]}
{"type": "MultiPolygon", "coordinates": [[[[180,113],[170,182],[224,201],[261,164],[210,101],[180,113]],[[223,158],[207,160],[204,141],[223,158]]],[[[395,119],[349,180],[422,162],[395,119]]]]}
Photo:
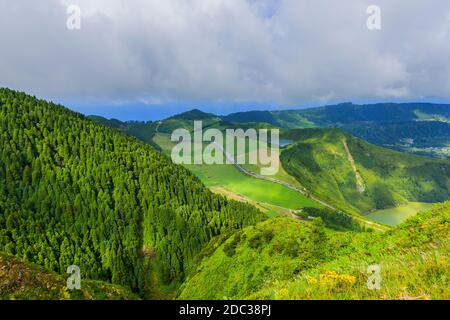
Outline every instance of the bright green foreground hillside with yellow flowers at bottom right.
{"type": "Polygon", "coordinates": [[[212,242],[180,299],[449,299],[450,203],[386,233],[271,219],[212,242]],[[367,287],[381,267],[380,290],[367,287]]]}

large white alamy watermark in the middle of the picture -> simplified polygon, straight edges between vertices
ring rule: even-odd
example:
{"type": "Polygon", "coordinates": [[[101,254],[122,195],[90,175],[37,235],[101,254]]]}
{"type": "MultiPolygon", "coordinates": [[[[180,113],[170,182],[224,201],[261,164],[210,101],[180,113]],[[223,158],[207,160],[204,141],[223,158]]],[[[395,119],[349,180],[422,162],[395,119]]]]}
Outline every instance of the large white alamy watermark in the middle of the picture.
{"type": "Polygon", "coordinates": [[[279,169],[278,129],[208,129],[203,132],[202,121],[194,121],[193,138],[190,131],[177,129],[172,133],[172,161],[176,164],[243,164],[258,165],[260,174],[272,176],[279,169]],[[270,134],[269,134],[270,132],[270,134]]]}

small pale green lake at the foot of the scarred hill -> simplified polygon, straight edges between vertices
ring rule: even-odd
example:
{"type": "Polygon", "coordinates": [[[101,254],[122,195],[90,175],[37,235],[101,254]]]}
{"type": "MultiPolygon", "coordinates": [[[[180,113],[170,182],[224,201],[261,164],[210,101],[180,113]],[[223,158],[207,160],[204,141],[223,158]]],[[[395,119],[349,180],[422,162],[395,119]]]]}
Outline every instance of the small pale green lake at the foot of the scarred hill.
{"type": "Polygon", "coordinates": [[[369,218],[376,222],[387,224],[389,226],[396,226],[409,217],[412,217],[421,211],[428,210],[431,207],[431,203],[410,202],[396,208],[377,210],[373,213],[368,214],[366,218],[369,218]]]}

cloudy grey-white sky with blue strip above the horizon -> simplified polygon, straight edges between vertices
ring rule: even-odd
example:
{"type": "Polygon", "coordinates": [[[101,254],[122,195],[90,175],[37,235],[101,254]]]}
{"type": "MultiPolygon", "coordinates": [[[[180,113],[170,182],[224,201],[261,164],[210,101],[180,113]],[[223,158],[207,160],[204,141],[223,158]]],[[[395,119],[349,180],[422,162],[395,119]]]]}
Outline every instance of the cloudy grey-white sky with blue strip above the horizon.
{"type": "Polygon", "coordinates": [[[0,12],[0,87],[85,114],[450,102],[448,0],[0,0],[0,12]]]}

